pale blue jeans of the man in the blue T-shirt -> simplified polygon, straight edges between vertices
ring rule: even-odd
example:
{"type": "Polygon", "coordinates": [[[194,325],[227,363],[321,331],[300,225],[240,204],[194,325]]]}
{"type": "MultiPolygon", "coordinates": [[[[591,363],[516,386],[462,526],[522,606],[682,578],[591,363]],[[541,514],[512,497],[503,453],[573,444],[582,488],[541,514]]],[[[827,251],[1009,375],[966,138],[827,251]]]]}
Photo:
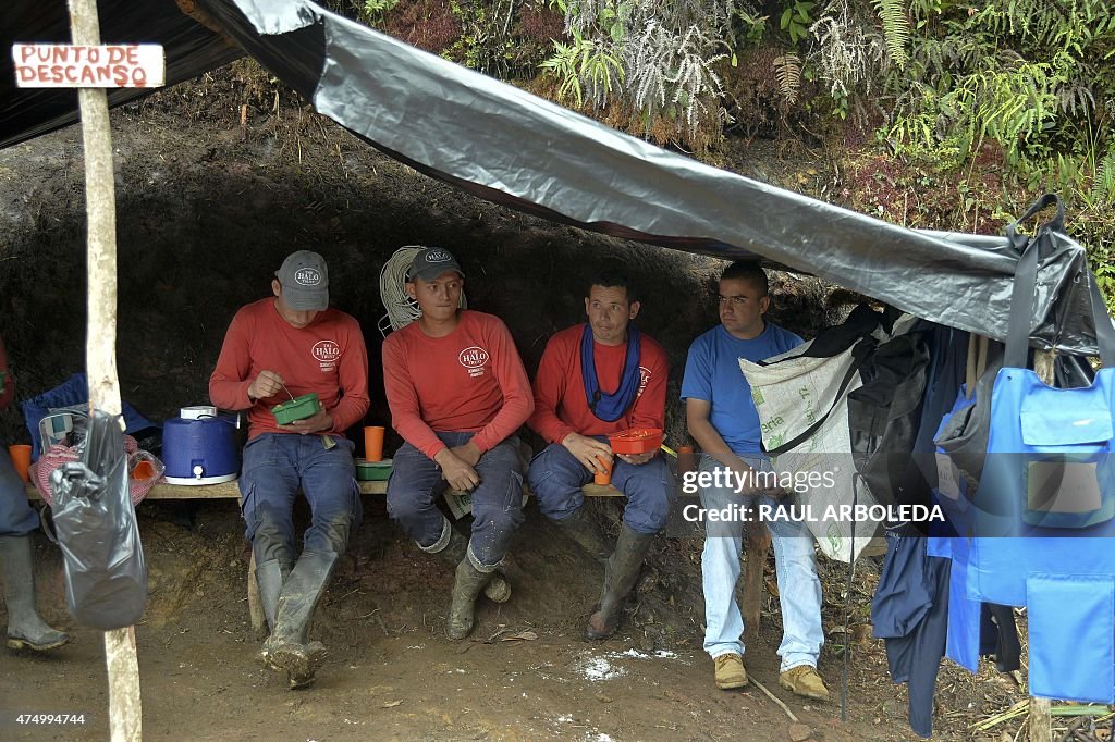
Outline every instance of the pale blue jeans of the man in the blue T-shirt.
{"type": "MultiPolygon", "coordinates": [[[[758,470],[770,470],[763,458],[740,457],[758,470]]],[[[711,472],[721,465],[707,455],[700,457],[700,471],[711,472]]],[[[723,509],[741,504],[745,497],[731,487],[700,489],[701,507],[723,509]]],[[[753,498],[754,499],[754,498],[753,498]]],[[[769,498],[754,502],[768,502],[769,498]]],[[[817,655],[825,635],[821,628],[821,580],[817,578],[813,536],[801,521],[767,521],[770,530],[775,572],[778,577],[778,602],[782,605],[780,672],[798,665],[817,666],[817,655]]],[[[739,580],[739,555],[743,546],[743,523],[706,524],[705,550],[701,554],[701,577],[705,587],[705,651],[712,657],[744,653],[744,619],[736,603],[739,580]],[[714,531],[714,533],[710,533],[714,531]]]]}

